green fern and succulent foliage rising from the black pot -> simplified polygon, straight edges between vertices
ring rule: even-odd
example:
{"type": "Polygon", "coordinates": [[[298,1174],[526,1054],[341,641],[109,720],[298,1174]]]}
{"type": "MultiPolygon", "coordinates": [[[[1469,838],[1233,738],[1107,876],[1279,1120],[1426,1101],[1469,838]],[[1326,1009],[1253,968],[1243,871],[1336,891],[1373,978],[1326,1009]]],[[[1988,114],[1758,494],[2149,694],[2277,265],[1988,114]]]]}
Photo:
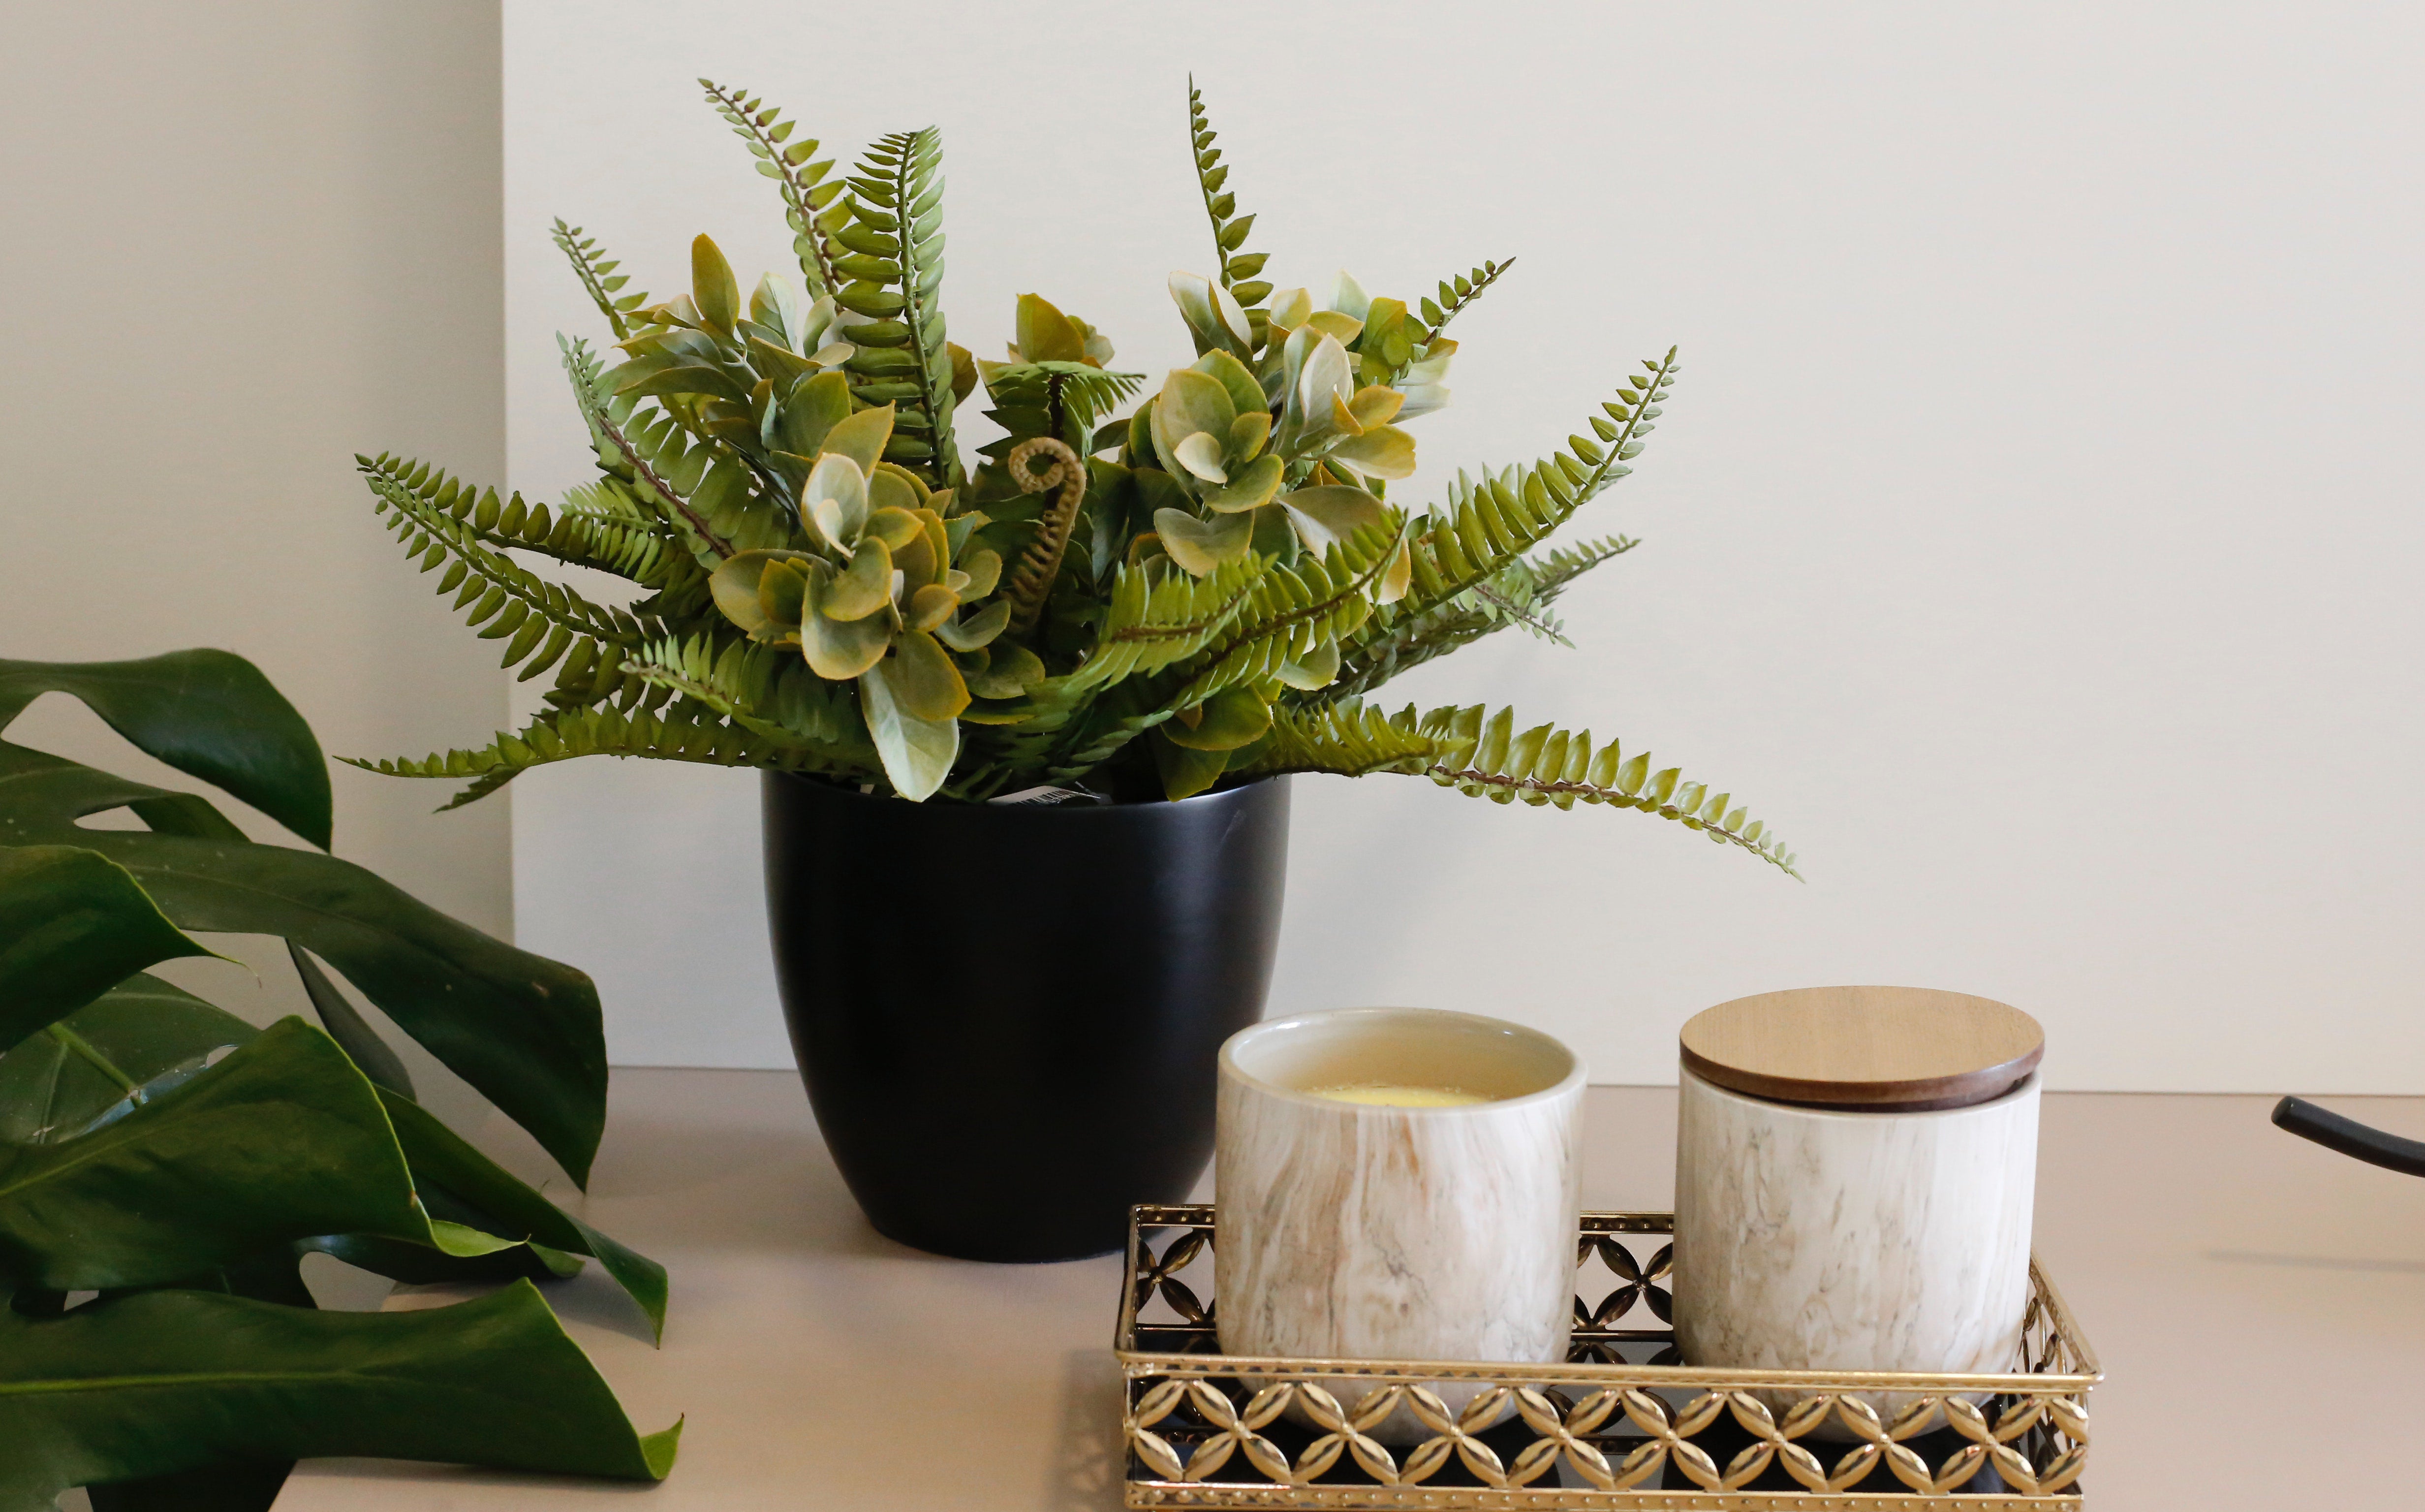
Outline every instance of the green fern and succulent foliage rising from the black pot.
{"type": "Polygon", "coordinates": [[[800,282],[744,299],[713,240],[652,301],[582,228],[555,240],[611,332],[560,337],[597,481],[555,510],[364,456],[376,510],[546,714],[483,750],[376,762],[470,779],[461,801],[580,755],[776,767],[902,798],[1031,784],[1186,798],[1280,772],[1428,777],[1494,801],[1639,808],[1794,871],[1729,794],[1508,709],[1385,714],[1390,677],[1550,609],[1632,546],[1547,536],[1630,471],[1676,383],[1642,364],[1552,456],[1457,473],[1428,507],[1404,430],[1448,403],[1448,325],[1504,272],[1436,299],[1276,291],[1200,95],[1191,141],[1215,277],[1171,274],[1196,362],[1145,393],[1086,320],[1021,296],[1004,362],[946,337],[934,129],[834,177],[759,97],[701,80],[776,182],[800,282]],[[999,439],[963,454],[977,386],[999,439]],[[1123,405],[1145,396],[1123,413],[1123,405]],[[635,582],[628,609],[524,568],[635,582]]]}

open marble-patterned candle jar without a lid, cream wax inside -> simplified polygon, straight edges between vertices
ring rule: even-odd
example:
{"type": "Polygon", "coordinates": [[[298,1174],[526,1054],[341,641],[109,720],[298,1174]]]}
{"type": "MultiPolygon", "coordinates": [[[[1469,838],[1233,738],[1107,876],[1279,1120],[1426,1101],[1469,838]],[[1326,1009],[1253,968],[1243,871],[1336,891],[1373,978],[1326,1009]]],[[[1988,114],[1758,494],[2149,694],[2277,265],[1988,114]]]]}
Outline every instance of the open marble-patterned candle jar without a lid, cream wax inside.
{"type": "Polygon", "coordinates": [[[1225,1354],[1567,1357],[1584,1107],[1574,1051],[1419,1007],[1273,1019],[1222,1046],[1217,1107],[1225,1354]],[[1375,1085],[1487,1102],[1317,1092],[1375,1085]]]}

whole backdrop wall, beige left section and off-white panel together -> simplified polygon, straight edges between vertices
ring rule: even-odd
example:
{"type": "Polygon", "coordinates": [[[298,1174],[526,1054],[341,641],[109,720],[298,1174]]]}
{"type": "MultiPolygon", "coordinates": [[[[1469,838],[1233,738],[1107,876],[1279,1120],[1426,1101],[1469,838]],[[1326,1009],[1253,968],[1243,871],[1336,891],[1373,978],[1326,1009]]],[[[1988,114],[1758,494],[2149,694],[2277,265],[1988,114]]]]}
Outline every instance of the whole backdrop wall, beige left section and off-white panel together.
{"type": "MultiPolygon", "coordinates": [[[[946,5],[905,95],[849,66],[892,56],[883,17],[774,0],[681,24],[509,0],[502,39],[495,5],[19,7],[0,646],[218,643],[330,750],[475,743],[504,680],[349,454],[536,495],[580,476],[550,332],[594,318],[550,214],[660,289],[694,231],[781,265],[694,75],[837,143],[938,121],[955,335],[992,349],[1040,289],[1159,371],[1186,357],[1162,274],[1205,262],[1193,68],[1283,282],[1523,260],[1460,328],[1428,476],[1542,451],[1637,352],[1685,345],[1642,473],[1588,522],[1647,546],[1569,599],[1581,650],[1511,641],[1404,697],[1647,740],[1811,871],[1307,781],[1276,1010],[1489,1007],[1600,1080],[1666,1080],[1719,997],[1918,980],[2039,1012],[2056,1085],[2425,1085],[2425,194],[2396,148],[2425,133],[2425,22],[1375,15],[946,5]],[[1431,92],[1375,124],[1375,80],[1431,92]]],[[[121,760],[73,709],[19,731],[121,760]]],[[[441,796],[340,772],[340,849],[492,930],[519,905],[524,944],[601,978],[626,1063],[786,1058],[744,774],[534,774],[512,893],[504,801],[432,818],[441,796]]],[[[264,980],[257,1012],[286,1002],[264,980]]]]}

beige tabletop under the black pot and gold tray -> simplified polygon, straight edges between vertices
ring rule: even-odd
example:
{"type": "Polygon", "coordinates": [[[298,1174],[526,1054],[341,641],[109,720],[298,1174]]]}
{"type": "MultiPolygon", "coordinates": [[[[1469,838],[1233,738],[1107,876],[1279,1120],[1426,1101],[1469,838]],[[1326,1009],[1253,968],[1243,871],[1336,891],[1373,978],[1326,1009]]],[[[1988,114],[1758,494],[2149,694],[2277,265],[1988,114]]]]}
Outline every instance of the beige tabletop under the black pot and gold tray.
{"type": "MultiPolygon", "coordinates": [[[[2107,1371],[2098,1512],[2418,1505],[2425,1182],[2272,1129],[2270,1102],[2047,1097],[2037,1252],[2107,1371]]],[[[2326,1102],[2425,1136],[2425,1099],[2326,1102]]],[[[1673,1087],[1588,1092],[1586,1206],[1668,1209],[1673,1165],[1673,1087]]],[[[992,1267],[878,1238],[793,1075],[616,1070],[587,1218],[674,1277],[664,1349],[597,1267],[550,1289],[643,1429],[689,1417],[664,1485],[313,1461],[279,1512],[1120,1505],[1120,1260],[992,1267]]]]}

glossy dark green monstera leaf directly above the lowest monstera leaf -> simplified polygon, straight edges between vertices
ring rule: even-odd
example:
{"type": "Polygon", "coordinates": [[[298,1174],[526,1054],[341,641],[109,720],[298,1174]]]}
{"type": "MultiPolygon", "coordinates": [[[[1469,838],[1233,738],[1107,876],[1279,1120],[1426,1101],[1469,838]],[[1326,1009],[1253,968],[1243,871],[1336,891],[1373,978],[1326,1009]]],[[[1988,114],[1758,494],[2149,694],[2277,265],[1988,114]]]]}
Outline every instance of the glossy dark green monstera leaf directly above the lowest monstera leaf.
{"type": "Polygon", "coordinates": [[[286,1240],[398,1281],[546,1279],[594,1255],[664,1332],[662,1264],[366,1085],[298,1019],[262,1034],[133,976],[0,1056],[0,1277],[155,1284],[286,1240]],[[46,1245],[70,1216],[73,1243],[46,1245]]]}

